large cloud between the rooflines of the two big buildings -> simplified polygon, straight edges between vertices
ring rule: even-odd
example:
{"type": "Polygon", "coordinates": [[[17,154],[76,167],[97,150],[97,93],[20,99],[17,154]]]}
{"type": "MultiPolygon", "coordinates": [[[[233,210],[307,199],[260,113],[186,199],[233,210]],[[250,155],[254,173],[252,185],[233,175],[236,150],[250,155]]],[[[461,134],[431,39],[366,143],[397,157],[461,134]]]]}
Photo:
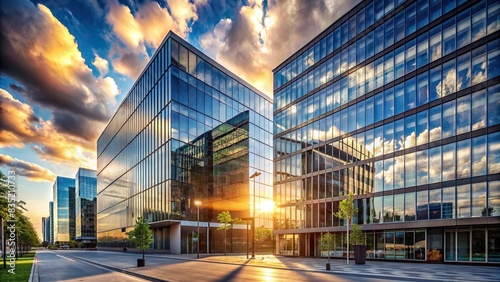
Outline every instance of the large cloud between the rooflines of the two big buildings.
{"type": "Polygon", "coordinates": [[[277,0],[242,6],[234,21],[222,19],[200,37],[218,62],[272,94],[272,69],[359,1],[277,0]],[[279,23],[279,24],[276,24],[279,23]]]}

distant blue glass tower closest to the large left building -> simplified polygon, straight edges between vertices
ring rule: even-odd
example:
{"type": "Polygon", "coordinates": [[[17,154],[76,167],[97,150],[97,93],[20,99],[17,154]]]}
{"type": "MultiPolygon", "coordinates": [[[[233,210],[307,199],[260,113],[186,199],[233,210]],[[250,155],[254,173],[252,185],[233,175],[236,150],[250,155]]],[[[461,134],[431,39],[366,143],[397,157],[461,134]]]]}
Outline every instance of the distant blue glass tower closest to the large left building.
{"type": "Polygon", "coordinates": [[[97,231],[97,175],[95,170],[78,169],[75,176],[75,240],[95,245],[97,231]]]}

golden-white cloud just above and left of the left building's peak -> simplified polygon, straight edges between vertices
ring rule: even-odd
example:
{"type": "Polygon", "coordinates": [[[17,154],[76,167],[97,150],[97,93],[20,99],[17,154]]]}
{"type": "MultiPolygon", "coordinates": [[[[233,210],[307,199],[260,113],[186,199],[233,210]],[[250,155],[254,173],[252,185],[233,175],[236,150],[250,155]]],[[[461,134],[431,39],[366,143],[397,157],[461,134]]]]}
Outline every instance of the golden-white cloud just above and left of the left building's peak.
{"type": "Polygon", "coordinates": [[[169,30],[186,37],[198,19],[196,5],[205,2],[167,0],[166,4],[146,1],[134,11],[118,1],[109,4],[106,22],[114,41],[109,57],[115,71],[136,79],[149,60],[146,47],[156,49],[169,30]]]}

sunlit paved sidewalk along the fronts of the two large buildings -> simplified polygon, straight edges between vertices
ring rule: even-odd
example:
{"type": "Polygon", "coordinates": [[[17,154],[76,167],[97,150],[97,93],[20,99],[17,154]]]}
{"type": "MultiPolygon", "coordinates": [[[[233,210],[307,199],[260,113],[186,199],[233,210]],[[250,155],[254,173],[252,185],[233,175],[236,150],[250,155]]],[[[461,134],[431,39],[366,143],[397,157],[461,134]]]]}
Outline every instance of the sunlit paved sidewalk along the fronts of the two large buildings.
{"type": "Polygon", "coordinates": [[[378,278],[411,278],[434,281],[500,281],[500,268],[497,266],[429,264],[419,262],[366,261],[356,265],[354,260],[347,264],[345,259],[330,259],[331,270],[326,270],[326,258],[300,258],[274,255],[256,255],[247,259],[246,254],[148,254],[151,257],[164,257],[179,260],[198,260],[210,263],[227,263],[253,267],[270,267],[302,271],[318,271],[335,274],[354,274],[378,278]]]}

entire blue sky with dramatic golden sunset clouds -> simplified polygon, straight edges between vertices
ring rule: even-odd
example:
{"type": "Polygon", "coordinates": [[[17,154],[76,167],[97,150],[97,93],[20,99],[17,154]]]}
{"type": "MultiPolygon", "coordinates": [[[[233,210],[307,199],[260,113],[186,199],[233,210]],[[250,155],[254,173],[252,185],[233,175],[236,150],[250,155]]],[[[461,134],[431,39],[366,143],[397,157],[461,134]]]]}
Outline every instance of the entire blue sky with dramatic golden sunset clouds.
{"type": "Polygon", "coordinates": [[[56,176],[96,140],[172,30],[272,96],[272,70],[359,0],[0,0],[0,171],[39,237],[56,176]]]}

